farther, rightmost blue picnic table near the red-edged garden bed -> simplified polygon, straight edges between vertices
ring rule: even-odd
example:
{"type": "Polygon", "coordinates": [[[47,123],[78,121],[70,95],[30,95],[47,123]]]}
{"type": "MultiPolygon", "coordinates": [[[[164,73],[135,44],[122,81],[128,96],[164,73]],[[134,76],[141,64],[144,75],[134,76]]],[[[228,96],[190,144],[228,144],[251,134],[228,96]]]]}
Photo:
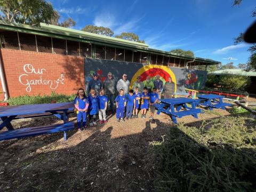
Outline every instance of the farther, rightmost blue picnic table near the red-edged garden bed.
{"type": "Polygon", "coordinates": [[[231,106],[231,103],[222,101],[222,98],[225,98],[222,95],[204,94],[197,97],[197,105],[208,107],[210,110],[213,110],[213,108],[225,109],[226,106],[231,106]]]}

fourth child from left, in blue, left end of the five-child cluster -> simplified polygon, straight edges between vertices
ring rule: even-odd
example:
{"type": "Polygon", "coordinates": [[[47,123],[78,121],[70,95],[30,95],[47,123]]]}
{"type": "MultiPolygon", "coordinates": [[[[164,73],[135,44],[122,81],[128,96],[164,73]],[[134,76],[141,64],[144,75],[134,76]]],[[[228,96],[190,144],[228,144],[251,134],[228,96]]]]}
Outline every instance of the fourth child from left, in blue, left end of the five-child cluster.
{"type": "Polygon", "coordinates": [[[124,121],[124,108],[126,106],[126,98],[124,95],[124,90],[119,90],[119,95],[117,95],[116,99],[116,120],[119,122],[119,117],[121,117],[121,121],[124,121]]]}

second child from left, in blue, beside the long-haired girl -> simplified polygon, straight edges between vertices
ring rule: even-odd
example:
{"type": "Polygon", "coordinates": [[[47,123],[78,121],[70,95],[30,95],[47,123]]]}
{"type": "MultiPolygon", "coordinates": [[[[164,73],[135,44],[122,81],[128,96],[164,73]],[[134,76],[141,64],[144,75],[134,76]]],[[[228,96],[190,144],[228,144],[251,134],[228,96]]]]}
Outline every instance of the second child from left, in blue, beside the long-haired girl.
{"type": "Polygon", "coordinates": [[[97,125],[96,123],[96,115],[99,111],[99,98],[95,94],[95,90],[91,89],[90,95],[88,97],[89,99],[89,120],[90,120],[90,126],[97,125]]]}

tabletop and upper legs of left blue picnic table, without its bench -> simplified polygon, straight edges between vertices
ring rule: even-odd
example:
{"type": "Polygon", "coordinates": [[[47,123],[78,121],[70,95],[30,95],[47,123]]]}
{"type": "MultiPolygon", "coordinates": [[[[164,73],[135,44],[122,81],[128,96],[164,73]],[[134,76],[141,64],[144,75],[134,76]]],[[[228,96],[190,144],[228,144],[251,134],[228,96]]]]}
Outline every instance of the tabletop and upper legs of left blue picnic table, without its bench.
{"type": "Polygon", "coordinates": [[[73,102],[0,107],[0,118],[2,119],[0,130],[5,126],[8,130],[13,130],[11,121],[18,115],[29,117],[29,115],[33,116],[33,114],[51,113],[63,120],[63,123],[67,123],[67,112],[70,110],[74,110],[73,102]]]}

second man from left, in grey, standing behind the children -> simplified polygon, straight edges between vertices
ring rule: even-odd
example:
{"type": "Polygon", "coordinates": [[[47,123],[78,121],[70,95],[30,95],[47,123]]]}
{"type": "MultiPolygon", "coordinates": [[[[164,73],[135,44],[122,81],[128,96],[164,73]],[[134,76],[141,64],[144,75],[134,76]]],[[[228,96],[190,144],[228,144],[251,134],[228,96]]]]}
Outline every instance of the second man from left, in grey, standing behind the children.
{"type": "Polygon", "coordinates": [[[107,95],[108,101],[110,102],[110,110],[113,112],[114,106],[114,94],[115,94],[115,86],[116,80],[113,78],[113,74],[111,72],[108,73],[108,78],[103,82],[103,89],[105,94],[107,95]]]}

